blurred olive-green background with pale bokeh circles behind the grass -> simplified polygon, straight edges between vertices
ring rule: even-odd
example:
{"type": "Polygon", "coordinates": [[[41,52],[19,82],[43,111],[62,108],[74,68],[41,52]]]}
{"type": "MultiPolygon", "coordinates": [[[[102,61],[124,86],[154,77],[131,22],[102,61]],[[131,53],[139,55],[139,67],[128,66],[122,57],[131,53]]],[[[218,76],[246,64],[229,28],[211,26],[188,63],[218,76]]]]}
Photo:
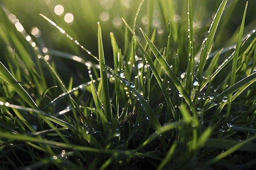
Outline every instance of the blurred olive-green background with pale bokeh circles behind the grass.
{"type": "MultiPolygon", "coordinates": [[[[54,28],[39,13],[47,16],[58,26],[71,35],[75,40],[90,50],[95,56],[98,53],[97,45],[97,22],[101,23],[103,34],[103,46],[106,56],[106,63],[112,65],[112,47],[109,33],[113,32],[119,48],[125,55],[125,24],[121,20],[124,18],[132,27],[133,21],[140,0],[1,0],[2,8],[5,6],[14,15],[0,12],[0,60],[4,62],[4,51],[6,46],[13,47],[13,44],[6,41],[8,31],[14,27],[13,24],[6,24],[10,20],[18,19],[22,25],[16,24],[19,32],[26,31],[30,36],[29,40],[36,43],[39,50],[49,53],[49,61],[54,60],[58,72],[62,69],[70,68],[75,74],[83,73],[84,65],[63,57],[64,55],[81,56],[84,60],[97,64],[88,53],[70,41],[58,29],[54,28]],[[4,4],[4,6],[3,6],[4,4]],[[78,72],[77,72],[78,71],[78,72]]],[[[193,32],[194,32],[194,53],[200,50],[202,41],[207,36],[207,31],[211,25],[214,15],[221,0],[192,0],[193,32]]],[[[214,40],[213,51],[222,47],[227,47],[236,43],[238,26],[243,17],[246,0],[229,0],[219,28],[218,38],[214,40]],[[230,19],[231,18],[231,19],[230,19]]],[[[188,18],[187,0],[145,0],[136,22],[136,33],[142,38],[139,27],[141,27],[149,37],[156,29],[155,45],[159,50],[166,47],[168,36],[168,18],[171,20],[171,57],[175,57],[177,49],[181,59],[181,69],[186,68],[188,56],[188,18]]],[[[256,0],[249,0],[247,9],[245,31],[246,35],[256,27],[256,0]]],[[[15,30],[15,29],[13,29],[15,30]]],[[[17,31],[16,31],[17,32],[17,31]]],[[[16,33],[18,34],[18,32],[16,33]]],[[[129,40],[132,38],[128,32],[129,40]]],[[[27,40],[28,41],[28,40],[27,40]]],[[[142,41],[142,40],[141,40],[142,41]]],[[[143,42],[142,42],[143,43],[143,42]]],[[[18,51],[17,51],[18,53],[18,51]]],[[[137,51],[137,55],[140,52],[137,51]]],[[[32,56],[31,56],[32,57],[32,56]]],[[[74,73],[65,72],[69,77],[74,73]]],[[[64,76],[64,77],[65,77],[64,76]]]]}

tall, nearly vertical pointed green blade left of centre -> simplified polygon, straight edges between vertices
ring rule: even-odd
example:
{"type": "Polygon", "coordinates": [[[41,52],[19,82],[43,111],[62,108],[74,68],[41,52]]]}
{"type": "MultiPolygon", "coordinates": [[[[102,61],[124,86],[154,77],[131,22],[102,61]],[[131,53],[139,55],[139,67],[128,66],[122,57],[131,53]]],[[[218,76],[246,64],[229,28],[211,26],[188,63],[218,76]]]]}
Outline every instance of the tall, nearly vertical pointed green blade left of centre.
{"type": "Polygon", "coordinates": [[[105,107],[105,114],[108,121],[112,121],[112,109],[110,105],[110,97],[108,91],[108,76],[106,71],[106,64],[105,64],[105,57],[103,51],[103,44],[102,44],[102,35],[101,35],[101,26],[98,22],[98,52],[99,52],[99,69],[101,75],[101,83],[102,83],[102,96],[103,96],[103,103],[105,107]]]}

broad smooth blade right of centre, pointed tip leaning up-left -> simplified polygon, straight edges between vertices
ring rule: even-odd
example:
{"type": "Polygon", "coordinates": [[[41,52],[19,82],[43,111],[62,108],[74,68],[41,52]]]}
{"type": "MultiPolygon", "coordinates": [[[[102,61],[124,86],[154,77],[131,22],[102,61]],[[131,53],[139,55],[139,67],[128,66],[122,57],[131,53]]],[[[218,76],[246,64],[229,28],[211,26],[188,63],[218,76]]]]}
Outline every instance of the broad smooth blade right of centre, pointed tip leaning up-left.
{"type": "Polygon", "coordinates": [[[196,110],[195,110],[195,106],[192,104],[191,99],[188,95],[188,93],[186,93],[185,89],[183,88],[182,84],[180,83],[180,81],[177,79],[175,73],[173,73],[173,70],[171,69],[171,67],[168,65],[168,63],[166,62],[166,60],[164,60],[163,56],[161,55],[161,53],[157,50],[157,48],[155,47],[155,45],[150,41],[150,39],[148,38],[148,36],[144,33],[144,31],[142,29],[140,29],[146,42],[148,43],[148,46],[150,47],[151,51],[153,52],[153,54],[155,55],[155,57],[157,58],[158,62],[161,64],[162,68],[164,69],[164,71],[166,72],[166,74],[168,75],[168,77],[172,80],[173,84],[176,86],[176,88],[178,89],[178,91],[180,92],[180,94],[182,94],[182,96],[184,97],[185,101],[187,102],[187,104],[189,105],[189,108],[191,109],[193,115],[196,114],[196,110]]]}

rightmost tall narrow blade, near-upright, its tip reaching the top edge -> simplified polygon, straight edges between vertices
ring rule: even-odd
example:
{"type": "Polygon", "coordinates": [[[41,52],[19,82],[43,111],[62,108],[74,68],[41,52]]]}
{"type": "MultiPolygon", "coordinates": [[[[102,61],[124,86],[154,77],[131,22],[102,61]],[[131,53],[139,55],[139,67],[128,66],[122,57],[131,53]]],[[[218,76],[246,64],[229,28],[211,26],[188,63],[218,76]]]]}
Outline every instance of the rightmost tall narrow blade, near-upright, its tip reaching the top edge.
{"type": "MultiPolygon", "coordinates": [[[[248,1],[246,2],[245,5],[245,11],[243,14],[243,19],[242,19],[242,23],[240,26],[240,31],[238,34],[238,39],[236,42],[236,50],[234,53],[234,58],[233,58],[233,62],[232,62],[232,70],[231,70],[231,80],[230,80],[230,86],[233,86],[236,82],[236,69],[237,69],[237,62],[238,62],[238,55],[240,52],[240,48],[241,48],[241,42],[242,42],[242,38],[243,38],[243,31],[244,31],[244,26],[245,26],[245,15],[246,15],[246,10],[247,10],[247,5],[248,5],[248,1]]],[[[229,114],[231,111],[231,100],[232,100],[232,93],[229,95],[229,99],[228,99],[228,110],[227,110],[227,114],[226,114],[226,122],[229,119],[229,114]]]]}

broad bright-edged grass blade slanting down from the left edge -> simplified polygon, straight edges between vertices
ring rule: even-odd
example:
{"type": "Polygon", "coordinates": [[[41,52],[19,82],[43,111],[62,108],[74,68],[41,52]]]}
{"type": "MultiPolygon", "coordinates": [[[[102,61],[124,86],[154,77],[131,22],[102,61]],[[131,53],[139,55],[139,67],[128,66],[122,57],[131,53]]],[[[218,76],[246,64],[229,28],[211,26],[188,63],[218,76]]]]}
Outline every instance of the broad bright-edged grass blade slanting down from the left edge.
{"type": "Polygon", "coordinates": [[[20,83],[11,75],[8,69],[0,62],[0,79],[6,82],[9,86],[12,86],[15,91],[22,97],[29,106],[34,109],[38,109],[38,106],[34,102],[34,100],[30,97],[30,95],[25,91],[25,89],[20,85],[20,83]]]}

